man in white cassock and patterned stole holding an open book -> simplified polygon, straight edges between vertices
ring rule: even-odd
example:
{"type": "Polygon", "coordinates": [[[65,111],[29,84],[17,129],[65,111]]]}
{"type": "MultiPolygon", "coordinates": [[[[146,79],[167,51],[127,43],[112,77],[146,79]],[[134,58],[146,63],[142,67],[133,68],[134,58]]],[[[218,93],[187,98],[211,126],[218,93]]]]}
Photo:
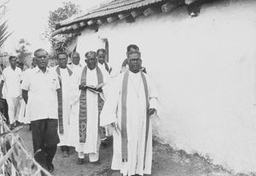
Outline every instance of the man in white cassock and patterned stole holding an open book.
{"type": "Polygon", "coordinates": [[[78,164],[84,162],[84,154],[88,154],[90,162],[99,160],[101,144],[100,113],[103,106],[104,85],[108,82],[107,71],[96,66],[96,52],[85,54],[83,70],[75,72],[70,83],[70,144],[79,153],[78,164]]]}

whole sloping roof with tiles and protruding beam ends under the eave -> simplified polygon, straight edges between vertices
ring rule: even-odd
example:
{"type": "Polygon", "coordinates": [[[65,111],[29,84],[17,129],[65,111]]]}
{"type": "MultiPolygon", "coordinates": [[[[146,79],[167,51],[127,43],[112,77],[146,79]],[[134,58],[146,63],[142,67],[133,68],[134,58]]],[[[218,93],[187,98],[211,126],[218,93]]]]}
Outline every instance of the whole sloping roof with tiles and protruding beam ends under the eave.
{"type": "MultiPolygon", "coordinates": [[[[132,22],[141,14],[148,16],[159,12],[167,13],[180,5],[187,4],[189,11],[190,4],[200,7],[201,3],[207,1],[209,0],[113,0],[108,3],[102,3],[99,8],[91,9],[85,14],[79,14],[61,21],[52,36],[81,31],[86,27],[97,29],[98,26],[102,25],[103,21],[109,23],[114,20],[126,19],[128,22],[132,22]]],[[[194,14],[191,13],[190,15],[194,14]]]]}

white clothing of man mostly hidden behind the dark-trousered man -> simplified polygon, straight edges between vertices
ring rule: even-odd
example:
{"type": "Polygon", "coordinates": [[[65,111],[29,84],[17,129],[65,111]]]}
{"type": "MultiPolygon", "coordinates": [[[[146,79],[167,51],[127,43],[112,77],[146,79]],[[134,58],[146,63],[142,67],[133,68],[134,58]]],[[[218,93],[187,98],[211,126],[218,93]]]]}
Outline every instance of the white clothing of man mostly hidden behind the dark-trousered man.
{"type": "MultiPolygon", "coordinates": [[[[32,68],[26,69],[26,71],[22,72],[22,78],[21,80],[23,81],[28,77],[29,74],[32,73],[32,68]]],[[[29,99],[30,91],[28,90],[27,96],[29,99]]],[[[24,123],[30,123],[30,116],[29,116],[29,105],[27,105],[24,101],[24,99],[20,99],[20,112],[19,112],[19,121],[24,122],[24,123]]]]}

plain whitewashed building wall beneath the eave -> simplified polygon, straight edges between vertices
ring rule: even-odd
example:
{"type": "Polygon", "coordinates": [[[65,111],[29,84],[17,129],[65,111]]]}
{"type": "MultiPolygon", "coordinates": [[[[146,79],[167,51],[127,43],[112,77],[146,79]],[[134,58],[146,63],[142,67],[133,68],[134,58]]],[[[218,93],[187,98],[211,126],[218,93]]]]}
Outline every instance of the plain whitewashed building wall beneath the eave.
{"type": "Polygon", "coordinates": [[[218,1],[196,18],[180,8],[117,21],[83,31],[77,50],[103,48],[106,37],[119,71],[127,45],[137,44],[160,94],[159,137],[235,172],[256,172],[255,9],[255,1],[218,1]]]}

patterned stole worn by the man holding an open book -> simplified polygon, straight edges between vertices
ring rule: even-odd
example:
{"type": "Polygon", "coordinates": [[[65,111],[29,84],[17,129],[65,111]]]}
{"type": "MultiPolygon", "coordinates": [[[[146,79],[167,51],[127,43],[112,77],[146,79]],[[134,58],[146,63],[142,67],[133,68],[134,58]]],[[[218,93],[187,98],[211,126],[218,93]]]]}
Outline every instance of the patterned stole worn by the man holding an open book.
{"type": "MultiPolygon", "coordinates": [[[[86,72],[87,66],[84,66],[84,70],[82,72],[81,83],[86,84],[86,72]]],[[[97,74],[97,83],[100,84],[103,82],[102,71],[96,66],[96,74],[97,74]]],[[[85,143],[86,141],[86,128],[87,128],[87,105],[86,105],[86,91],[81,90],[81,94],[79,97],[79,142],[85,143]]],[[[89,90],[88,90],[89,91],[89,90]]],[[[100,114],[102,111],[102,107],[104,105],[104,101],[100,94],[98,94],[98,131],[101,135],[105,133],[105,129],[100,127],[100,114]]]]}

